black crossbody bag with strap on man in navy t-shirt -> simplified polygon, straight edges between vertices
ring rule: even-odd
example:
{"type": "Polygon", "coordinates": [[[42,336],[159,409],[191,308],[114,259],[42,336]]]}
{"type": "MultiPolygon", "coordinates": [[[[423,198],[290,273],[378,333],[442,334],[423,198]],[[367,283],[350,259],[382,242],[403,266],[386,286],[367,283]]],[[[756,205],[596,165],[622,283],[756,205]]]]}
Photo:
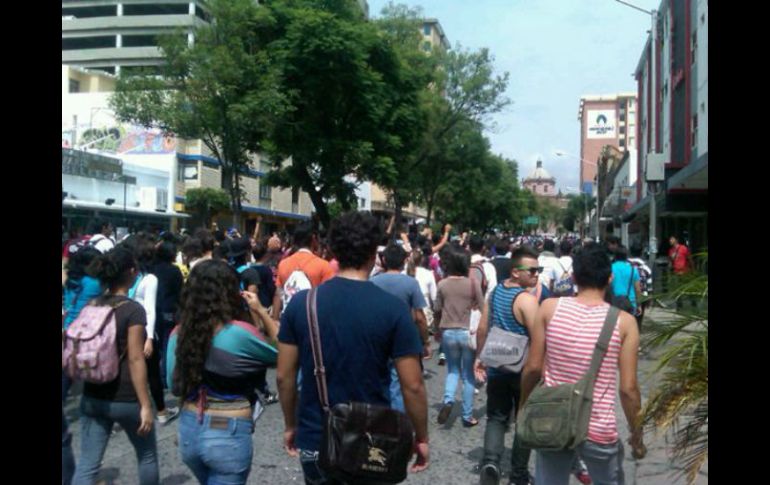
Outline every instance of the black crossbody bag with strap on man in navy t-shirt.
{"type": "Polygon", "coordinates": [[[406,480],[414,452],[414,429],[407,416],[385,406],[361,402],[329,406],[316,306],[317,288],[306,300],[318,398],[324,410],[318,465],[331,478],[362,485],[406,480]]]}

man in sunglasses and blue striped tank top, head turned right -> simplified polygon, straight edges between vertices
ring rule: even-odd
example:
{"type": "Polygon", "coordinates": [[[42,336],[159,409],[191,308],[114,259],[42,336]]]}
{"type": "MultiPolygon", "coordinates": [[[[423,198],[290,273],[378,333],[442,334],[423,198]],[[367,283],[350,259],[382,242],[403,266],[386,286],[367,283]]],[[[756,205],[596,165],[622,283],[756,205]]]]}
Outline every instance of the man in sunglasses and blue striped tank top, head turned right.
{"type": "MultiPolygon", "coordinates": [[[[532,338],[538,307],[537,298],[526,291],[537,285],[538,274],[542,270],[537,264],[537,253],[527,246],[520,247],[511,255],[511,263],[510,278],[488,293],[476,337],[476,379],[484,381],[489,378],[481,485],[497,485],[500,480],[500,458],[505,446],[505,431],[508,429],[511,412],[516,413],[521,403],[521,374],[502,369],[486,369],[478,357],[484,349],[491,326],[532,338]]],[[[514,436],[510,483],[530,483],[529,455],[530,450],[521,447],[514,436]]]]}

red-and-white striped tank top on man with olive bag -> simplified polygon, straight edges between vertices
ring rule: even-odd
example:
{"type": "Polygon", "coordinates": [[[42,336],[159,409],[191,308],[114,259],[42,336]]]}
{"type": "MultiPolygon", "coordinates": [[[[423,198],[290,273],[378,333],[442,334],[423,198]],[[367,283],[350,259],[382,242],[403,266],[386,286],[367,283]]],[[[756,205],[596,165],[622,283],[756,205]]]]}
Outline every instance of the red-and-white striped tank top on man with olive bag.
{"type": "MultiPolygon", "coordinates": [[[[588,371],[609,308],[606,303],[584,305],[575,298],[559,298],[545,332],[546,386],[574,384],[588,371]]],[[[595,443],[611,444],[618,440],[615,397],[619,358],[620,327],[615,323],[594,385],[588,439],[595,443]]]]}

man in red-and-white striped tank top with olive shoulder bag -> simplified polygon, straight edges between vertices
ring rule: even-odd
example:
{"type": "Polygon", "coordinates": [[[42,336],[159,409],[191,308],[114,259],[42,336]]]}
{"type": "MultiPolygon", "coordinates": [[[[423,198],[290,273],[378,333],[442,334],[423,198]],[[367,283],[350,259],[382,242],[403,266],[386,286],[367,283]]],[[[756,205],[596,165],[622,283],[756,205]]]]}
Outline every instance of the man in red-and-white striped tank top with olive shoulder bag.
{"type": "MultiPolygon", "coordinates": [[[[609,311],[604,293],[612,281],[612,267],[606,251],[596,243],[583,246],[573,261],[575,283],[580,288],[578,296],[545,300],[535,317],[536,330],[530,333],[530,351],[522,378],[524,401],[541,376],[546,386],[575,383],[590,366],[609,311]]],[[[575,452],[583,459],[596,483],[625,483],[624,451],[618,436],[615,396],[619,390],[631,430],[629,443],[633,456],[641,459],[646,449],[639,420],[638,349],[636,321],[629,313],[621,311],[596,377],[588,439],[576,451],[538,451],[535,466],[538,484],[567,485],[575,452]]]]}

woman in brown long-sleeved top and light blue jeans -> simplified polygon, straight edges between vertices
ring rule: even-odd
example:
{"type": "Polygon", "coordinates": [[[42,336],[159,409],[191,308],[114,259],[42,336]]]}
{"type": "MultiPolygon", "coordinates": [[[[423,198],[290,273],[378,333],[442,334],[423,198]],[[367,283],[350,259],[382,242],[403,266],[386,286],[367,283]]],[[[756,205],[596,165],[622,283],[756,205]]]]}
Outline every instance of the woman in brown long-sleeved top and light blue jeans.
{"type": "Polygon", "coordinates": [[[468,277],[470,254],[458,246],[441,251],[441,266],[446,275],[438,284],[434,319],[440,321],[442,346],[447,357],[447,377],[444,406],[438,423],[444,424],[452,412],[457,383],[463,381],[463,426],[479,424],[473,417],[473,397],[476,379],[473,363],[476,352],[470,346],[471,310],[481,308],[484,296],[481,285],[468,277]]]}

